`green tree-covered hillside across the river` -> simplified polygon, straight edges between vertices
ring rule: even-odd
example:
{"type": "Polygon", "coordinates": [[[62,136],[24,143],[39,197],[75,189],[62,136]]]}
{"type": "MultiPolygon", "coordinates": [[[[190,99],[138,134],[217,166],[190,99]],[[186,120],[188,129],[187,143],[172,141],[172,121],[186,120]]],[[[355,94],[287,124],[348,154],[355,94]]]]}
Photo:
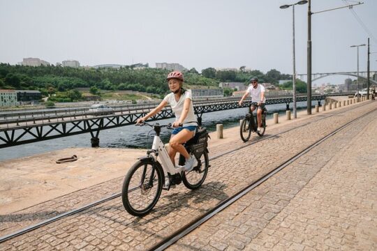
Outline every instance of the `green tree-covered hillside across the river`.
{"type": "MultiPolygon", "coordinates": [[[[38,90],[43,96],[57,94],[65,102],[80,100],[77,89],[87,88],[91,93],[108,91],[140,91],[163,96],[168,92],[165,77],[169,70],[145,68],[69,68],[61,66],[10,66],[0,63],[0,89],[38,90]]],[[[198,73],[195,68],[184,72],[186,88],[218,88],[219,82],[245,82],[250,77],[258,77],[260,82],[277,84],[279,79],[289,79],[278,70],[269,70],[266,74],[259,70],[245,72],[216,70],[207,68],[198,73]]]]}

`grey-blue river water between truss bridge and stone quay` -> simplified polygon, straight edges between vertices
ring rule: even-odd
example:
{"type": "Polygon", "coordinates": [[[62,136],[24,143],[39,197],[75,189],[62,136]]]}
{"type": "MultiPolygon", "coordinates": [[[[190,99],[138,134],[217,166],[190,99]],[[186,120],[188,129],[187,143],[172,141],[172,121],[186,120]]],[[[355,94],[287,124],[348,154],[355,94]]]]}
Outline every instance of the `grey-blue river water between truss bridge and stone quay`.
{"type": "MultiPolygon", "coordinates": [[[[323,101],[321,101],[323,103],[323,101]]],[[[316,105],[317,101],[313,101],[312,105],[316,105]]],[[[286,104],[267,105],[267,119],[273,116],[274,112],[279,112],[279,116],[285,115],[286,104]]],[[[306,101],[297,102],[297,111],[306,109],[306,101]]],[[[202,115],[202,124],[209,132],[216,130],[216,124],[222,123],[224,128],[239,126],[239,119],[247,112],[247,108],[229,109],[219,112],[208,112],[202,115]]],[[[164,119],[158,121],[160,124],[171,123],[174,119],[164,119]]],[[[154,132],[151,132],[149,126],[122,126],[109,130],[101,130],[99,133],[100,147],[103,148],[150,148],[153,140],[154,132]],[[147,137],[149,134],[149,137],[147,137]]],[[[163,130],[161,138],[163,142],[168,142],[170,130],[163,130]]],[[[91,135],[85,133],[82,135],[74,135],[70,137],[61,137],[59,139],[50,139],[43,142],[24,144],[20,146],[11,146],[0,150],[0,161],[12,158],[22,158],[38,153],[46,153],[59,149],[75,148],[75,147],[91,147],[91,135]]]]}

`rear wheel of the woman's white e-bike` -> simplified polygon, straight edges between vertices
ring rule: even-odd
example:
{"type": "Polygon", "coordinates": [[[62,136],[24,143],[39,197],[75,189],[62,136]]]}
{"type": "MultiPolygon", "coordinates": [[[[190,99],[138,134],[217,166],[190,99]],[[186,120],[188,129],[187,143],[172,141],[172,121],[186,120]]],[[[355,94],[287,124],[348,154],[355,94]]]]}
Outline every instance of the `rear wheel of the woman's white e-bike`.
{"type": "MultiPolygon", "coordinates": [[[[198,160],[198,159],[197,159],[198,160]]],[[[193,167],[193,169],[190,172],[184,172],[184,175],[182,176],[182,181],[186,188],[195,190],[200,188],[200,185],[205,181],[205,178],[207,177],[208,173],[208,167],[209,167],[209,158],[207,149],[203,152],[202,156],[200,156],[200,159],[198,160],[198,165],[193,167]],[[197,178],[198,177],[198,178],[197,178]],[[197,180],[193,182],[193,180],[197,180]]]]}

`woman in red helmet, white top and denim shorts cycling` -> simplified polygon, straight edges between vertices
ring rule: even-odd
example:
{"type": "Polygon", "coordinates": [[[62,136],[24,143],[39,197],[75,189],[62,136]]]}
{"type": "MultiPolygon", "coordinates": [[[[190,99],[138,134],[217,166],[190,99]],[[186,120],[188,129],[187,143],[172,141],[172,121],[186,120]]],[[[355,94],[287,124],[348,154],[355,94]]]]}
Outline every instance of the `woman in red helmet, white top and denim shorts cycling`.
{"type": "Polygon", "coordinates": [[[172,123],[172,127],[175,129],[172,131],[172,137],[170,138],[169,142],[169,156],[173,165],[175,165],[175,155],[177,152],[181,153],[184,158],[186,158],[184,169],[186,172],[189,172],[191,169],[193,169],[195,157],[194,155],[190,157],[182,144],[193,137],[197,127],[197,123],[195,122],[196,118],[193,111],[191,91],[186,91],[182,88],[184,76],[179,71],[169,73],[166,79],[168,80],[169,89],[172,92],[165,96],[161,103],[156,108],[151,110],[151,112],[138,119],[136,124],[146,121],[151,116],[154,116],[156,113],[160,112],[165,105],[169,104],[175,114],[175,122],[172,123]]]}

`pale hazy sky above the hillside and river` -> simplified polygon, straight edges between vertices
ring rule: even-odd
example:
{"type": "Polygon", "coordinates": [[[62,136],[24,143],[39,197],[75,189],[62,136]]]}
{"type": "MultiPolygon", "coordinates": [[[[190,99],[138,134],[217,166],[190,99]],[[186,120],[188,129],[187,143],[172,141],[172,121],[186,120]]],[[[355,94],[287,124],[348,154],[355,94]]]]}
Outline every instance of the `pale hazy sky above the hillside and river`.
{"type": "MultiPolygon", "coordinates": [[[[279,6],[297,1],[0,0],[0,62],[167,62],[199,72],[246,66],[292,74],[293,8],[279,6]]],[[[311,11],[355,2],[311,0],[311,11]]],[[[362,2],[352,10],[311,15],[312,73],[356,71],[357,49],[350,45],[367,44],[367,38],[370,51],[377,52],[377,0],[362,2]]],[[[297,73],[306,73],[307,6],[295,6],[297,73]]],[[[359,52],[360,71],[367,70],[367,47],[359,52]]],[[[377,70],[377,53],[370,56],[371,70],[377,70]]]]}

